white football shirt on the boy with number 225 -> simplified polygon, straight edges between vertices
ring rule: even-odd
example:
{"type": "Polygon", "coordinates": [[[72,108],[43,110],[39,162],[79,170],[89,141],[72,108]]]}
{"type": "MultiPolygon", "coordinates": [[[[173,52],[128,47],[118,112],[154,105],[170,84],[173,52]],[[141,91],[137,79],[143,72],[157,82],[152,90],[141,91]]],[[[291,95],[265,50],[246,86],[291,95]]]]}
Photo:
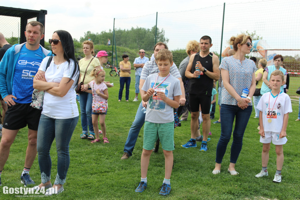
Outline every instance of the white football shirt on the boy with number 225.
{"type": "Polygon", "coordinates": [[[267,92],[264,95],[262,95],[256,108],[259,111],[262,111],[262,125],[264,131],[272,131],[272,132],[280,133],[283,126],[283,116],[286,113],[292,112],[292,104],[289,95],[287,95],[284,92],[280,92],[277,100],[276,98],[277,95],[273,96],[272,93],[270,94],[270,92],[267,92]],[[270,98],[270,105],[269,105],[269,98],[270,98]],[[271,117],[269,115],[269,112],[271,113],[271,117]],[[268,122],[269,119],[272,120],[271,123],[268,122]]]}

